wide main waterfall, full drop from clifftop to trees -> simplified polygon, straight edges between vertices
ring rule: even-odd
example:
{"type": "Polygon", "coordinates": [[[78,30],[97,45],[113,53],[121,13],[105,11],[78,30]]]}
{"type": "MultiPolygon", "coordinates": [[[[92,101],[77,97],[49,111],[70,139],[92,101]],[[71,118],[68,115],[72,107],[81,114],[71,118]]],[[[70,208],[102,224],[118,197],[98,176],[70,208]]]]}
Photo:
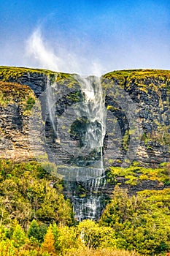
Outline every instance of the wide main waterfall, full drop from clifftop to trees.
{"type": "Polygon", "coordinates": [[[90,191],[88,195],[81,198],[80,196],[73,195],[72,203],[75,214],[75,219],[82,221],[82,219],[98,219],[104,207],[104,197],[98,189],[104,189],[106,178],[102,176],[104,173],[104,157],[103,146],[104,137],[106,134],[106,108],[101,89],[100,78],[90,76],[82,78],[76,76],[77,81],[81,85],[84,94],[84,101],[80,108],[80,116],[88,118],[88,126],[86,132],[82,135],[84,142],[83,151],[96,151],[100,154],[100,164],[97,169],[93,168],[93,177],[86,181],[79,183],[84,189],[90,191]]]}

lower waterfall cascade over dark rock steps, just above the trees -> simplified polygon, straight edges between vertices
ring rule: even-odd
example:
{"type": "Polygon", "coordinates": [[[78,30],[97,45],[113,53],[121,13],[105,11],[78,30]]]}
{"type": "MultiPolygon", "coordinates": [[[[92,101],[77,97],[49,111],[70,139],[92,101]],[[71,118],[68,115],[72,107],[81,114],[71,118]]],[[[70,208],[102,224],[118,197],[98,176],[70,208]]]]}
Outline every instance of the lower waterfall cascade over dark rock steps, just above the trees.
{"type": "Polygon", "coordinates": [[[101,176],[90,178],[88,181],[70,182],[66,181],[65,187],[67,197],[71,200],[74,210],[74,217],[78,221],[83,219],[97,220],[101,217],[107,195],[105,186],[107,178],[101,176]],[[87,195],[80,195],[80,187],[87,195]]]}

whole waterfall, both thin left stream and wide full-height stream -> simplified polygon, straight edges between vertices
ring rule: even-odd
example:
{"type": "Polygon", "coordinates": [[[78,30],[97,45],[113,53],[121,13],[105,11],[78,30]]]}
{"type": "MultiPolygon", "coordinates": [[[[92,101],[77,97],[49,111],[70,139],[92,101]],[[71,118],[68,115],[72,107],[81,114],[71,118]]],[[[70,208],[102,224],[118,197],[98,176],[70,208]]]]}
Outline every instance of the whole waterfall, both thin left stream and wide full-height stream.
{"type": "MultiPolygon", "coordinates": [[[[98,219],[104,207],[104,196],[98,191],[104,189],[106,184],[103,157],[104,137],[106,134],[106,109],[100,78],[95,76],[82,78],[78,75],[75,75],[74,78],[80,84],[83,95],[80,107],[76,110],[77,116],[82,119],[84,118],[79,137],[81,140],[81,161],[83,159],[85,162],[88,157],[88,164],[84,164],[83,166],[79,165],[79,167],[85,174],[88,173],[90,169],[92,175],[87,175],[85,180],[82,181],[81,178],[77,178],[77,181],[65,181],[65,190],[67,197],[69,197],[73,203],[75,218],[82,221],[82,219],[98,219]],[[82,191],[84,195],[82,195],[82,191]]],[[[57,121],[55,120],[57,118],[55,109],[56,89],[57,84],[53,83],[53,85],[50,85],[48,81],[48,116],[55,135],[57,135],[58,132],[57,121]]],[[[69,167],[67,167],[67,169],[69,169],[69,167]]]]}

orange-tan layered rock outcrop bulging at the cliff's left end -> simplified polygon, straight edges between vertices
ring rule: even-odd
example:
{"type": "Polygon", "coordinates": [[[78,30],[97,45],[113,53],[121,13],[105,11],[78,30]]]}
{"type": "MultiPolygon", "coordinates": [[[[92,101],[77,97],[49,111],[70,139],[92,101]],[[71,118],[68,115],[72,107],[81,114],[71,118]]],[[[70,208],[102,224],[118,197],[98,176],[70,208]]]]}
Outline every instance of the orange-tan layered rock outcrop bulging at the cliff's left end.
{"type": "Polygon", "coordinates": [[[28,121],[35,102],[33,91],[18,83],[0,82],[0,157],[26,160],[32,156],[28,121]]]}

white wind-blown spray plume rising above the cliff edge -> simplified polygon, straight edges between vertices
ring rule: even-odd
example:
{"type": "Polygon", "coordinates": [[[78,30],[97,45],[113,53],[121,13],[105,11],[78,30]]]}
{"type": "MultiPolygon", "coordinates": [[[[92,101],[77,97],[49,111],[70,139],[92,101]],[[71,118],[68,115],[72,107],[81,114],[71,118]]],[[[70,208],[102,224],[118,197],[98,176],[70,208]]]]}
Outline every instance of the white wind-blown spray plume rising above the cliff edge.
{"type": "Polygon", "coordinates": [[[26,42],[26,56],[37,67],[52,69],[57,72],[78,73],[80,75],[102,75],[104,67],[97,60],[90,60],[76,52],[69,51],[66,45],[54,49],[42,36],[41,29],[36,29],[26,42]]]}

